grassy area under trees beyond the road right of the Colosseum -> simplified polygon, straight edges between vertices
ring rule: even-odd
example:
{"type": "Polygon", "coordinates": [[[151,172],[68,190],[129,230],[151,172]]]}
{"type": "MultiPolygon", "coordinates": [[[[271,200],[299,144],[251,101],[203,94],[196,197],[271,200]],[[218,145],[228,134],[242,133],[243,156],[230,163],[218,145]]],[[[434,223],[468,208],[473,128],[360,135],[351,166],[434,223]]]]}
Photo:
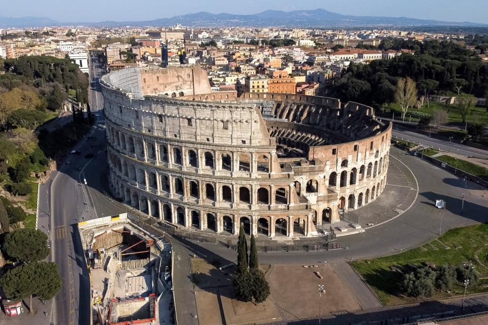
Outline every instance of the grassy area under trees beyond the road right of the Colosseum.
{"type": "MultiPolygon", "coordinates": [[[[433,102],[429,104],[429,107],[427,107],[427,104],[424,103],[420,109],[409,108],[405,117],[405,121],[418,122],[423,114],[432,116],[432,114],[434,114],[434,111],[438,109],[442,109],[448,112],[449,122],[461,123],[463,121],[461,115],[457,113],[455,105],[445,105],[433,102]]],[[[402,118],[402,109],[397,103],[391,104],[391,111],[388,112],[388,108],[386,107],[384,108],[384,110],[384,113],[380,110],[381,114],[383,114],[384,116],[391,117],[392,113],[394,112],[395,119],[400,120],[402,118]]],[[[473,106],[471,110],[471,115],[468,116],[468,121],[471,120],[471,117],[475,116],[476,120],[478,120],[479,122],[488,123],[488,113],[486,113],[486,108],[473,106]]]]}

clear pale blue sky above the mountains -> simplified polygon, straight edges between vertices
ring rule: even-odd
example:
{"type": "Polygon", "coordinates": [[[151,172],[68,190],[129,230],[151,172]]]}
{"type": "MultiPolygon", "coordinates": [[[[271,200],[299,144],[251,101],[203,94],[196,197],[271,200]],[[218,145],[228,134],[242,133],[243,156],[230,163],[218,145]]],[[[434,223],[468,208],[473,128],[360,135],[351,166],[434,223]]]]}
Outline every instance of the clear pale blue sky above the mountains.
{"type": "Polygon", "coordinates": [[[0,16],[43,16],[62,22],[151,20],[199,11],[253,14],[267,9],[323,8],[349,15],[488,23],[488,0],[4,0],[1,7],[0,16]]]}

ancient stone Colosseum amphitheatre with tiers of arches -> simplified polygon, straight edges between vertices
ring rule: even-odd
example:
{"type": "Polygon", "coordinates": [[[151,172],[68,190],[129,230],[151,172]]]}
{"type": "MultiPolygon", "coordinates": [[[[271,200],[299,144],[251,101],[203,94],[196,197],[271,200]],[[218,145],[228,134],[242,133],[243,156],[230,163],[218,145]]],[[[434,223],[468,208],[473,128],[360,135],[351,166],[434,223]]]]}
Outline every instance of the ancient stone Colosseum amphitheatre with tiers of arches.
{"type": "Polygon", "coordinates": [[[102,80],[116,197],[180,228],[320,236],[386,185],[391,124],[320,96],[212,92],[199,66],[102,80]]]}

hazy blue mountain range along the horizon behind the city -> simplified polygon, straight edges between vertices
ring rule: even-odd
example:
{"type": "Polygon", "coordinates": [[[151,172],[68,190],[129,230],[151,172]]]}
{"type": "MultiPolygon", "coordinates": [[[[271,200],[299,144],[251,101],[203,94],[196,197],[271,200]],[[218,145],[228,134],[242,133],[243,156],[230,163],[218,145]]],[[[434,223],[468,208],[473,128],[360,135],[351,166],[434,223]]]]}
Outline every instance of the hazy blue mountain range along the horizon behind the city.
{"type": "Polygon", "coordinates": [[[194,27],[210,26],[282,26],[282,27],[419,27],[419,26],[461,26],[488,27],[488,24],[473,22],[450,22],[440,20],[424,20],[407,17],[374,17],[352,16],[330,12],[324,9],[295,10],[290,12],[280,10],[266,10],[254,15],[212,14],[199,12],[171,18],[161,18],[147,21],[102,21],[97,23],[57,22],[49,18],[0,17],[0,26],[49,26],[49,25],[85,25],[85,26],[171,26],[181,24],[194,27]],[[7,20],[7,21],[4,21],[7,20]],[[13,25],[15,23],[15,25],[13,25]]]}

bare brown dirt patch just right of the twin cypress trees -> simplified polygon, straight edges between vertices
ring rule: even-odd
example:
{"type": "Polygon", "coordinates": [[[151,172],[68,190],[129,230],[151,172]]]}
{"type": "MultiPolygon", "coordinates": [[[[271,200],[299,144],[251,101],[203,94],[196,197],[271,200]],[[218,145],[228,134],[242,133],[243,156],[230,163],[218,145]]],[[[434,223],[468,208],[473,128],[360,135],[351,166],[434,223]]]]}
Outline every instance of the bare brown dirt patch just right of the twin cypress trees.
{"type": "Polygon", "coordinates": [[[361,307],[345,283],[330,266],[303,268],[276,265],[268,278],[271,296],[286,319],[307,318],[319,314],[318,285],[324,285],[320,298],[322,315],[353,312],[361,307]],[[320,279],[314,272],[320,272],[320,279]]]}

